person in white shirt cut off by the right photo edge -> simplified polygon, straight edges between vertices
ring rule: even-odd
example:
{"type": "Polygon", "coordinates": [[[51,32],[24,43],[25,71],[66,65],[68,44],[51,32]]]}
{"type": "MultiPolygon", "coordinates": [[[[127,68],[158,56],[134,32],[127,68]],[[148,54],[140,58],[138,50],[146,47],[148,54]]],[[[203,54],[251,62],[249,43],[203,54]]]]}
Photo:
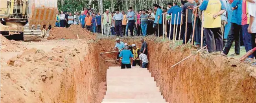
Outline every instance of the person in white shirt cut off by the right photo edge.
{"type": "MultiPolygon", "coordinates": [[[[256,35],[256,0],[247,0],[248,2],[248,14],[250,16],[250,22],[248,27],[248,33],[251,33],[252,48],[256,47],[255,35],[256,35]]],[[[256,52],[253,53],[256,58],[256,52]]]]}

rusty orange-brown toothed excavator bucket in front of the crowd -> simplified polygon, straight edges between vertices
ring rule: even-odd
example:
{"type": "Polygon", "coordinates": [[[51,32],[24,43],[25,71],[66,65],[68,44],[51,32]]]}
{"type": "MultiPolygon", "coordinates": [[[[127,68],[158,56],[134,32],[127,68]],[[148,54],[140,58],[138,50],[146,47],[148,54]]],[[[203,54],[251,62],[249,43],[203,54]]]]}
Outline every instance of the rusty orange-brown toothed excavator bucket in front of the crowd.
{"type": "Polygon", "coordinates": [[[48,29],[49,25],[54,26],[56,22],[57,0],[29,0],[31,3],[31,14],[29,16],[29,29],[32,25],[35,28],[48,29]],[[45,26],[45,27],[44,27],[45,26]]]}

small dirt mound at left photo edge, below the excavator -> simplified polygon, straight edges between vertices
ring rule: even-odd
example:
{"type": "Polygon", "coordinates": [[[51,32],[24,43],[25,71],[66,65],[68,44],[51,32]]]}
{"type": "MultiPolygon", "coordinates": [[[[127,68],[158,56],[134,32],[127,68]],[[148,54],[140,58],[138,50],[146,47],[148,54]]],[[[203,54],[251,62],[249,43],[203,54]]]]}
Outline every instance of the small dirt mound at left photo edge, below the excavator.
{"type": "Polygon", "coordinates": [[[25,46],[16,42],[15,40],[8,40],[1,34],[1,52],[19,52],[22,50],[26,50],[25,46]]]}

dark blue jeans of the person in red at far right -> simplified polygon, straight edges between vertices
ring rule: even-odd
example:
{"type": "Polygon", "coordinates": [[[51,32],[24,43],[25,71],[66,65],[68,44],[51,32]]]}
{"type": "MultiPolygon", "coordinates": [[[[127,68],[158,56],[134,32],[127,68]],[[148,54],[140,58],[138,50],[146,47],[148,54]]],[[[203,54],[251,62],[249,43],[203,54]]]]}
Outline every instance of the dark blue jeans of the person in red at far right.
{"type": "MultiPolygon", "coordinates": [[[[251,42],[251,38],[252,35],[248,33],[247,28],[248,28],[249,24],[243,25],[242,26],[242,31],[243,31],[243,43],[245,45],[245,50],[246,52],[248,52],[249,50],[252,49],[252,42],[251,42]]],[[[241,35],[241,34],[240,34],[241,35]]],[[[249,58],[253,58],[253,55],[249,55],[249,58]]]]}

